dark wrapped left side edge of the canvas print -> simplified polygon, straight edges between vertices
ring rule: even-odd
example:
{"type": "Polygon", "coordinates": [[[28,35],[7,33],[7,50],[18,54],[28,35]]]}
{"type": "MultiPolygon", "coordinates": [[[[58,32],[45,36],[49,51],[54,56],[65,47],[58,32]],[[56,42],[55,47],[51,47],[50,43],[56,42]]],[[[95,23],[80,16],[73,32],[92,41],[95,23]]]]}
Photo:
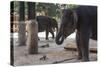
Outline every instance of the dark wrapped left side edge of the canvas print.
{"type": "Polygon", "coordinates": [[[10,28],[10,64],[13,66],[14,65],[14,45],[13,45],[13,13],[14,13],[14,1],[10,3],[10,23],[11,23],[11,28],[10,28]]]}

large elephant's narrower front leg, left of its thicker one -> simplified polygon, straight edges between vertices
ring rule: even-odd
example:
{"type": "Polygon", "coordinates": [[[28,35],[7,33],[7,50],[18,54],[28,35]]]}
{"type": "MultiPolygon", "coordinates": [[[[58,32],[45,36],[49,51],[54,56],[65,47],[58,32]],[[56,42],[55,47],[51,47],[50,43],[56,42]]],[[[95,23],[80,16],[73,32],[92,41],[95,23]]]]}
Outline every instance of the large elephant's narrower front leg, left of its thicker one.
{"type": "Polygon", "coordinates": [[[82,50],[81,50],[81,44],[80,44],[80,33],[78,31],[76,33],[76,44],[77,44],[77,50],[78,50],[78,59],[82,59],[82,50]]]}

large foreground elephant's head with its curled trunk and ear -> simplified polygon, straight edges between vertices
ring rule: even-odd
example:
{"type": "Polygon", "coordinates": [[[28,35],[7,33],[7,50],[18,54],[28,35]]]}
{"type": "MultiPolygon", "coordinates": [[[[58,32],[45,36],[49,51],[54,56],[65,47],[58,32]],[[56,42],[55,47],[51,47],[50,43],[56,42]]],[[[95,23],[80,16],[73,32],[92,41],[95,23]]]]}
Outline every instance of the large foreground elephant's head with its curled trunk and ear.
{"type": "Polygon", "coordinates": [[[74,10],[65,9],[62,11],[61,24],[55,39],[58,45],[62,44],[64,39],[75,31],[77,20],[78,17],[74,10]]]}

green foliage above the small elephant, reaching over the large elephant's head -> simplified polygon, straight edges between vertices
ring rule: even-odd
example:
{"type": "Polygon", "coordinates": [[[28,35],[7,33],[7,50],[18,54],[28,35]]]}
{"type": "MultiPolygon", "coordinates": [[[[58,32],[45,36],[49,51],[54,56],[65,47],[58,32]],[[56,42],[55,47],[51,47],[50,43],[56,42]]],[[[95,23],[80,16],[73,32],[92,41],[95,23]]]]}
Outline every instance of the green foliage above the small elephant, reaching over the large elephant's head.
{"type": "Polygon", "coordinates": [[[55,4],[55,3],[37,3],[36,11],[44,12],[47,16],[60,18],[62,9],[74,9],[77,5],[74,4],[55,4]]]}

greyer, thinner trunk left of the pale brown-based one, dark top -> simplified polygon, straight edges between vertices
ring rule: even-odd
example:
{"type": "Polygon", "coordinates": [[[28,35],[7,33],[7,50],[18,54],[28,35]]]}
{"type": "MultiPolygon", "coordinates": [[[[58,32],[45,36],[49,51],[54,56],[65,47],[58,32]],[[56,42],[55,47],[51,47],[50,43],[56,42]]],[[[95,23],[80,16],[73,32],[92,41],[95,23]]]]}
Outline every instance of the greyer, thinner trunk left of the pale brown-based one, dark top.
{"type": "Polygon", "coordinates": [[[19,46],[26,45],[26,31],[25,31],[25,7],[24,2],[20,1],[19,7],[19,46]]]}

